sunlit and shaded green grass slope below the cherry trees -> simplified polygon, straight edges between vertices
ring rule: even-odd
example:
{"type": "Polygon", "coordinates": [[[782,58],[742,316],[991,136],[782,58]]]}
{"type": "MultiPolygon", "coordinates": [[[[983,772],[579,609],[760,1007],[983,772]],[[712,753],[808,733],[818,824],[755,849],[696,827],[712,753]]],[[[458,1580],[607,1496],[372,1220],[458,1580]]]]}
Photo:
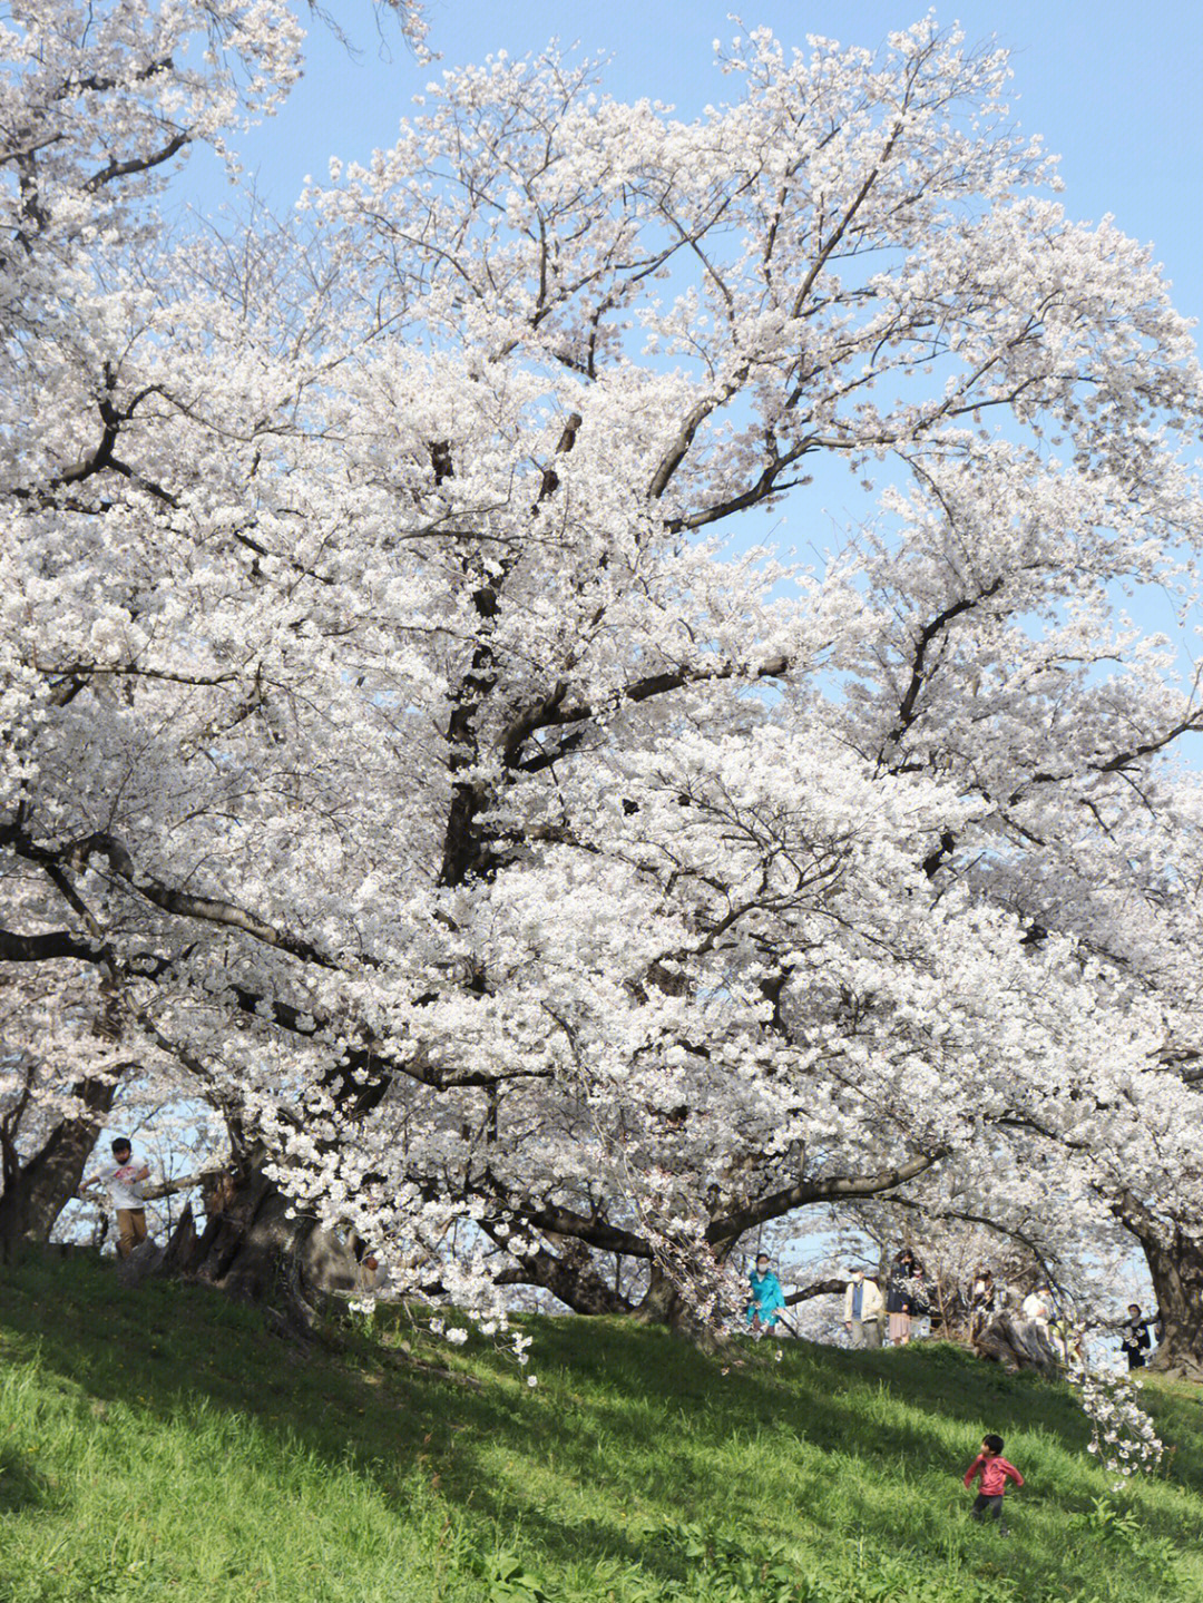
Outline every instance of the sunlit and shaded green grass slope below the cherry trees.
{"type": "Polygon", "coordinates": [[[1203,1603],[1192,1388],[1147,1387],[1176,1452],[1112,1494],[1064,1388],[943,1345],[530,1319],[529,1390],[396,1311],[301,1355],[91,1260],[0,1290],[0,1603],[1203,1603]],[[1028,1480],[1009,1540],[968,1518],[985,1430],[1028,1480]]]}

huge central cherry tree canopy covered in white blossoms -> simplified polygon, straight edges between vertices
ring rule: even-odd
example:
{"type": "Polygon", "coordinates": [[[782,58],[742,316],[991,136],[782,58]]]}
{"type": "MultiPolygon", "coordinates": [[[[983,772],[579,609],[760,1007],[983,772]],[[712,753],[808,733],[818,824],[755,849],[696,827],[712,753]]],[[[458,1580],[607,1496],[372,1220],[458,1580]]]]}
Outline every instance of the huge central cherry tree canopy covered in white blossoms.
{"type": "Polygon", "coordinates": [[[984,1129],[1118,1204],[1134,1076],[1153,1205],[1193,891],[1134,843],[1203,712],[1116,593],[1197,595],[1189,327],[1001,53],[722,61],[694,122],[449,72],[300,224],[120,258],[61,404],[26,370],[3,955],[231,1111],[213,1279],[320,1221],[684,1318],[984,1129]],[[748,550],[822,455],[876,518],[748,550]]]}

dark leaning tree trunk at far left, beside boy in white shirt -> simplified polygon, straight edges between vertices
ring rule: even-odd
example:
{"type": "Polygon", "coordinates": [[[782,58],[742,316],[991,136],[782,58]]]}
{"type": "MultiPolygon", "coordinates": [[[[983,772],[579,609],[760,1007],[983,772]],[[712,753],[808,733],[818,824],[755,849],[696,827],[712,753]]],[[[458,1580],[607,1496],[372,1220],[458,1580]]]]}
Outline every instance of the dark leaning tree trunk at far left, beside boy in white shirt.
{"type": "Polygon", "coordinates": [[[11,1263],[24,1242],[46,1242],[62,1212],[80,1188],[96,1135],[112,1108],[115,1080],[80,1080],[72,1087],[87,1109],[62,1119],[32,1157],[21,1159],[16,1133],[0,1130],[0,1262],[11,1263]]]}

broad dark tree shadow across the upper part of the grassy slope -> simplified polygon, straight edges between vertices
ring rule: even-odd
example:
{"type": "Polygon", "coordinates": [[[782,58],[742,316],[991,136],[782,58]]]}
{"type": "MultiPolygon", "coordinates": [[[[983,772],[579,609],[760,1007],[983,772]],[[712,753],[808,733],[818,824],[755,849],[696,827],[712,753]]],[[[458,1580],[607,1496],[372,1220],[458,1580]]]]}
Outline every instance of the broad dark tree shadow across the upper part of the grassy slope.
{"type": "MultiPolygon", "coordinates": [[[[804,1515],[846,1540],[847,1507],[841,1513],[819,1496],[833,1454],[852,1465],[847,1504],[860,1500],[859,1480],[897,1478],[899,1465],[915,1481],[947,1478],[952,1500],[960,1491],[952,1476],[984,1430],[1038,1428],[1073,1452],[1086,1443],[1064,1390],[942,1345],[851,1353],[787,1343],[779,1366],[764,1345],[743,1340],[713,1358],[630,1322],[541,1319],[527,1326],[540,1375],[532,1393],[511,1361],[482,1353],[477,1340],[463,1356],[423,1348],[396,1310],[381,1329],[386,1342],[404,1334],[421,1356],[476,1374],[481,1390],[381,1364],[367,1342],[352,1342],[344,1358],[300,1353],[269,1335],[256,1310],[199,1286],[123,1290],[99,1260],[32,1260],[0,1308],[0,1330],[26,1350],[35,1345],[45,1369],[99,1403],[186,1420],[203,1399],[251,1417],[282,1452],[298,1444],[352,1464],[399,1510],[416,1468],[485,1539],[495,1532],[497,1545],[517,1532],[546,1561],[639,1565],[655,1581],[682,1573],[649,1531],[703,1516],[766,1534],[767,1488],[770,1539],[804,1515]],[[963,1448],[950,1449],[950,1422],[964,1427],[963,1448]]],[[[37,1496],[30,1475],[18,1468],[16,1496],[37,1496]]],[[[0,1499],[3,1486],[0,1478],[0,1499]]],[[[1181,1537],[1168,1516],[1171,1528],[1181,1537]]],[[[935,1531],[927,1542],[937,1547],[935,1531]]],[[[1030,1569],[1056,1584],[1056,1552],[1033,1555],[1030,1569]]]]}

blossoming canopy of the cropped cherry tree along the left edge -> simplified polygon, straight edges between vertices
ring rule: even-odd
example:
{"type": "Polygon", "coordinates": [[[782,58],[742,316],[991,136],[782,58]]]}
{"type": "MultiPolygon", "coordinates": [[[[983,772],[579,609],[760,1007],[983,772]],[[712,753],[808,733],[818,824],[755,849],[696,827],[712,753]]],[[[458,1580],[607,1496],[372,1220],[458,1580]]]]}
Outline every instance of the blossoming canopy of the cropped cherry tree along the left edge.
{"type": "MultiPolygon", "coordinates": [[[[389,10],[420,43],[420,10],[408,0],[389,10]]],[[[122,383],[122,364],[139,340],[155,338],[154,309],[170,297],[154,202],[202,144],[237,175],[231,141],[287,93],[300,71],[301,38],[287,8],[226,0],[56,0],[18,5],[0,22],[0,563],[5,580],[16,575],[22,592],[22,603],[10,596],[18,612],[22,604],[43,609],[42,622],[58,598],[66,622],[75,617],[74,585],[98,595],[109,580],[115,596],[136,606],[135,592],[122,588],[120,561],[111,569],[106,548],[115,556],[115,523],[155,495],[122,441],[138,409],[157,396],[154,378],[122,383]],[[80,494],[90,481],[104,487],[80,494]],[[59,561],[75,540],[91,550],[93,579],[59,561]]],[[[22,638],[19,625],[16,633],[8,628],[11,616],[5,619],[0,811],[10,824],[26,816],[35,731],[83,689],[72,675],[48,680],[42,665],[56,660],[59,646],[67,656],[78,648],[88,662],[87,632],[103,628],[104,612],[99,600],[82,625],[82,644],[74,624],[62,636],[51,625],[38,641],[40,622],[22,638]]],[[[117,667],[120,673],[130,664],[117,667]]],[[[0,960],[38,965],[35,981],[29,971],[16,978],[19,968],[6,976],[5,1040],[26,1050],[8,1060],[0,1090],[5,1252],[22,1236],[48,1233],[119,1082],[149,1072],[154,1058],[138,1045],[120,1048],[128,1018],[119,965],[67,877],[50,864],[45,874],[82,920],[82,938],[30,943],[18,935],[24,915],[37,922],[40,909],[27,904],[29,885],[5,872],[3,922],[14,928],[0,936],[0,960]]]]}

